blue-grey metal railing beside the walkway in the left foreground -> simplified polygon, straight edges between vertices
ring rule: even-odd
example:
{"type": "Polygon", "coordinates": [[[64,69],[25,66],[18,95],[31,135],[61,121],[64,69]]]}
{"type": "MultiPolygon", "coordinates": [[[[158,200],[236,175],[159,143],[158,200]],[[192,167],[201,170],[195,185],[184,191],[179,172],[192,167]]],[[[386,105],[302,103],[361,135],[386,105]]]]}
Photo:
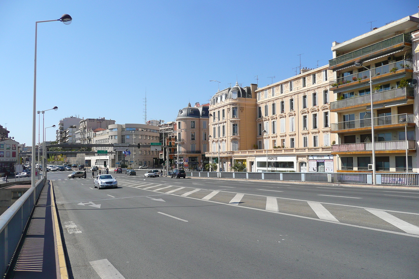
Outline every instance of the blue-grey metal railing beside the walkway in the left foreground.
{"type": "Polygon", "coordinates": [[[36,182],[0,216],[0,273],[5,274],[31,216],[44,179],[36,182]]]}

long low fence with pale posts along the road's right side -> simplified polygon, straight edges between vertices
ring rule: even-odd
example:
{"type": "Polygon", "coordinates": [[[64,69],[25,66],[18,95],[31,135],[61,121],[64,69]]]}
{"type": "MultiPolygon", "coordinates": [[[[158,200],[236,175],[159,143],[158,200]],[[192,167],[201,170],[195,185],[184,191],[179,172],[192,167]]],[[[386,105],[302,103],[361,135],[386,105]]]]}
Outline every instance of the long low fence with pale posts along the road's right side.
{"type": "MultiPolygon", "coordinates": [[[[212,177],[212,178],[236,178],[236,179],[260,179],[282,180],[301,182],[330,182],[330,183],[354,183],[372,184],[370,173],[327,173],[327,172],[208,172],[186,171],[187,177],[212,177]]],[[[376,174],[376,184],[380,185],[403,185],[419,186],[418,173],[380,173],[376,174]],[[407,178],[406,178],[407,175],[407,178]]]]}

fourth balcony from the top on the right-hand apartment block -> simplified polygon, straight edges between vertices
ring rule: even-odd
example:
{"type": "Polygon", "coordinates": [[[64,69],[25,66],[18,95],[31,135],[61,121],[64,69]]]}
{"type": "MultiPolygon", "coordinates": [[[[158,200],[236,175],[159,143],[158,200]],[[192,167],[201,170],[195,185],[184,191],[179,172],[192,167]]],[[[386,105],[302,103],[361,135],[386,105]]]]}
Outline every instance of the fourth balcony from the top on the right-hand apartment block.
{"type": "MultiPolygon", "coordinates": [[[[374,119],[374,128],[393,128],[393,127],[404,127],[404,123],[400,123],[403,119],[407,120],[408,126],[415,125],[415,115],[410,113],[388,115],[375,117],[374,119]],[[391,125],[391,126],[389,126],[391,125]]],[[[344,121],[331,124],[331,131],[334,133],[344,133],[351,131],[364,131],[371,130],[371,118],[359,119],[344,121]]]]}

